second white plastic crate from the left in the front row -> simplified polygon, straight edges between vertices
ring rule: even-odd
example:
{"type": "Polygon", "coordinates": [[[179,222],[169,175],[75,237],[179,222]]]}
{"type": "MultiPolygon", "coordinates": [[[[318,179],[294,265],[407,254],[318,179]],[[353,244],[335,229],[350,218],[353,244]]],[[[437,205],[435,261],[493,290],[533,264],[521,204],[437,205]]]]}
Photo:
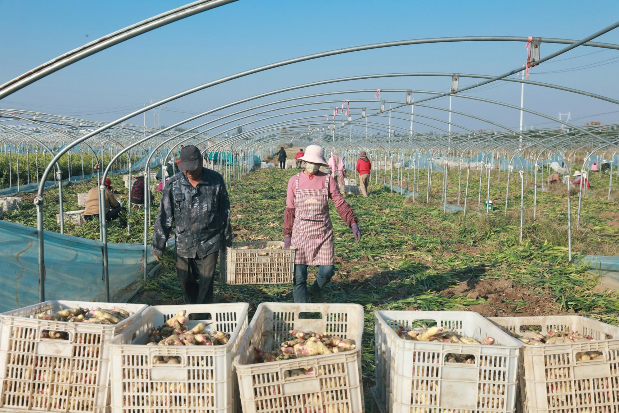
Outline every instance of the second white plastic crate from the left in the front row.
{"type": "Polygon", "coordinates": [[[232,359],[247,329],[249,304],[152,306],[110,343],[111,412],[232,413],[238,388],[232,359]],[[203,314],[207,331],[230,333],[225,345],[147,345],[150,332],[179,311],[203,314]],[[179,364],[154,364],[156,356],[173,356],[179,364]]]}

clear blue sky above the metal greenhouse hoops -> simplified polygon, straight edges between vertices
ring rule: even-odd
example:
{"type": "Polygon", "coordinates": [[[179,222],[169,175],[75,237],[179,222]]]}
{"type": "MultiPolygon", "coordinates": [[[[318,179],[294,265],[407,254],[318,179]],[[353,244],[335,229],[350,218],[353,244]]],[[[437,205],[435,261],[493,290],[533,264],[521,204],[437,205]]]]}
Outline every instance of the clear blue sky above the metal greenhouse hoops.
{"type": "MultiPolygon", "coordinates": [[[[0,0],[3,20],[0,24],[0,83],[84,43],[181,4],[184,2],[0,0]]],[[[114,120],[144,105],[150,96],[168,96],[262,64],[318,51],[392,40],[467,35],[580,39],[612,24],[619,16],[618,11],[617,1],[240,0],[167,25],[72,64],[0,100],[0,107],[114,120]]],[[[618,30],[602,35],[597,41],[619,43],[618,30]]],[[[542,43],[542,56],[559,48],[559,45],[542,43]]],[[[614,77],[619,59],[615,58],[619,57],[619,51],[599,50],[577,48],[569,51],[557,58],[561,61],[551,61],[531,69],[530,79],[616,98],[619,82],[614,77]],[[597,51],[599,53],[589,54],[597,51]],[[580,69],[596,62],[600,63],[580,69]],[[565,69],[570,71],[545,73],[565,69]]],[[[162,111],[161,123],[170,125],[188,117],[188,112],[202,112],[249,95],[322,79],[397,72],[501,74],[521,66],[525,60],[525,43],[514,42],[443,43],[348,53],[272,69],[197,92],[168,104],[162,111]]],[[[461,86],[472,82],[471,79],[462,79],[461,86]]],[[[449,86],[449,78],[372,79],[303,89],[278,95],[278,98],[350,89],[446,91],[449,86]]],[[[484,89],[471,95],[513,105],[520,103],[520,86],[517,84],[484,89]]],[[[526,86],[525,89],[524,104],[529,109],[555,118],[558,112],[571,112],[577,125],[588,120],[619,122],[619,112],[600,114],[619,110],[613,104],[545,88],[526,86]]],[[[420,96],[415,95],[416,98],[420,96]]],[[[371,100],[374,96],[342,94],[333,99],[360,98],[371,100]]],[[[383,98],[402,101],[404,95],[383,94],[383,98]]],[[[448,100],[434,100],[431,104],[447,107],[448,100]]],[[[259,100],[256,104],[266,101],[268,99],[259,100]]],[[[518,127],[517,111],[465,102],[464,99],[454,99],[453,102],[454,110],[518,127]]],[[[327,105],[316,107],[325,108],[324,113],[318,114],[332,113],[332,109],[327,110],[327,105]]],[[[420,108],[415,112],[446,118],[446,113],[436,110],[420,108]]],[[[457,115],[452,121],[468,128],[493,128],[457,115]]],[[[142,124],[143,117],[136,117],[131,122],[142,124]]],[[[147,113],[146,122],[152,126],[152,113],[147,113]]],[[[557,125],[547,122],[540,117],[525,115],[526,125],[557,125]]],[[[404,121],[394,121],[394,125],[408,128],[404,121]]],[[[422,126],[415,128],[428,130],[422,126]]]]}

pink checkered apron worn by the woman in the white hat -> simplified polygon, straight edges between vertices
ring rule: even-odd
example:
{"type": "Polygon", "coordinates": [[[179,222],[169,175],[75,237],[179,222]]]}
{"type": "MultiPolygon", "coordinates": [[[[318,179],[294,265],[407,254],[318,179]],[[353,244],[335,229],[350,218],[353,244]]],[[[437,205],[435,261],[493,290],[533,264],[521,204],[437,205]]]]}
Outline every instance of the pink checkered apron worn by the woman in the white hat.
{"type": "MultiPolygon", "coordinates": [[[[301,172],[303,173],[303,172],[301,172]]],[[[329,216],[329,179],[322,189],[299,189],[295,180],[295,223],[291,246],[297,248],[295,264],[334,265],[333,225],[329,216]]]]}

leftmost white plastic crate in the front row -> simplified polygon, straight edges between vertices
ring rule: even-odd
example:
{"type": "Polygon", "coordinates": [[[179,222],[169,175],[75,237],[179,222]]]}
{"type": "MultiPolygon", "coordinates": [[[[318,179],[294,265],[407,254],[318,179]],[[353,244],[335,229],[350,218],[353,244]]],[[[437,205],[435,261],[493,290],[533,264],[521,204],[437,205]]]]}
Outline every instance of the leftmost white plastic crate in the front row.
{"type": "Polygon", "coordinates": [[[0,314],[2,411],[105,412],[109,405],[108,342],[129,327],[146,307],[45,301],[0,314]],[[77,307],[120,308],[135,314],[115,325],[29,318],[77,307]],[[64,331],[69,339],[42,339],[42,331],[64,331]]]}

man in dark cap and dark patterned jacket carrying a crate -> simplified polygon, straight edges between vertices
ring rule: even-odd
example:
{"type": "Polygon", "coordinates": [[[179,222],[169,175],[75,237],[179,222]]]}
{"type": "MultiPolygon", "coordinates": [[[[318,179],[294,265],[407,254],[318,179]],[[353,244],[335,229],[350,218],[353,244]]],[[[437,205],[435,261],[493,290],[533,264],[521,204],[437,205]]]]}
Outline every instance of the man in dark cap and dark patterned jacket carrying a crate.
{"type": "Polygon", "coordinates": [[[197,146],[183,148],[179,168],[163,189],[150,251],[161,260],[175,227],[176,275],[187,301],[211,304],[219,251],[232,243],[230,199],[222,175],[202,167],[197,146]]]}

